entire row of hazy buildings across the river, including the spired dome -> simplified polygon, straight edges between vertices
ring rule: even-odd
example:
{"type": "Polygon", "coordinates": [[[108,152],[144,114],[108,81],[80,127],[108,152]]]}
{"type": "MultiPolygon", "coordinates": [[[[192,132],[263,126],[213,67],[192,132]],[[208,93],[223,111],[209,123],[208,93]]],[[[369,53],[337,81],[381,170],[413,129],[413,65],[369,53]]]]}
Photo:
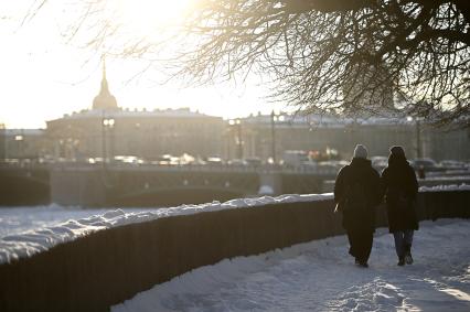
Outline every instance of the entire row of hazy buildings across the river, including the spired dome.
{"type": "Polygon", "coordinates": [[[151,161],[162,154],[188,153],[279,162],[288,150],[335,151],[341,159],[351,159],[355,144],[363,143],[370,157],[386,157],[391,146],[399,144],[409,159],[470,160],[469,129],[434,129],[404,118],[258,114],[223,120],[189,108],[122,109],[109,92],[105,66],[90,109],[46,123],[45,131],[0,129],[0,157],[86,160],[135,155],[151,161]]]}

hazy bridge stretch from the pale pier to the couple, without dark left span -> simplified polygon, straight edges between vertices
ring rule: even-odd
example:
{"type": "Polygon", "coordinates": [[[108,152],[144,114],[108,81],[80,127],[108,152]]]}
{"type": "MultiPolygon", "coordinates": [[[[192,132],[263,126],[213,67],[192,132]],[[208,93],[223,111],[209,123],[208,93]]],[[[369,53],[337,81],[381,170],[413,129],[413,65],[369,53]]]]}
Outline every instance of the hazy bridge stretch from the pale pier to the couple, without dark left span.
{"type": "Polygon", "coordinates": [[[316,193],[333,168],[55,164],[51,200],[63,205],[156,206],[259,194],[316,193]]]}

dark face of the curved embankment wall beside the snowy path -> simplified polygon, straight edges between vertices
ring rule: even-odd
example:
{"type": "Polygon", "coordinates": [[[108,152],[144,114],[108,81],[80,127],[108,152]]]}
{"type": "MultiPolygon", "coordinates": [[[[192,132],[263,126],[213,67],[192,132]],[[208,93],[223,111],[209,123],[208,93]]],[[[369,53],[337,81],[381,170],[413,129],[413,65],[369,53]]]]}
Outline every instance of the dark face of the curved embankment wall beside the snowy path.
{"type": "MultiPolygon", "coordinates": [[[[332,201],[203,212],[96,232],[0,266],[0,311],[108,311],[224,258],[343,234],[332,201]]],[[[426,192],[420,219],[470,217],[470,191],[426,192]]],[[[377,209],[385,226],[385,211],[377,209]]]]}

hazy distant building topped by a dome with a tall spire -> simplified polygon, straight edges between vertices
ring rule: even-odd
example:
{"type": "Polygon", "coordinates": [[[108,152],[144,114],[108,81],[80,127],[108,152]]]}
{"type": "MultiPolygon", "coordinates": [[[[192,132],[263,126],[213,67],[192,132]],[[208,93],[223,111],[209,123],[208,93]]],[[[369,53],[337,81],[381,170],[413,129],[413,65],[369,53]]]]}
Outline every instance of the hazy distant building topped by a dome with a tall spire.
{"type": "Polygon", "coordinates": [[[224,122],[189,108],[129,110],[117,106],[103,68],[102,88],[90,110],[50,120],[47,137],[56,158],[85,159],[161,154],[221,154],[224,122]]]}

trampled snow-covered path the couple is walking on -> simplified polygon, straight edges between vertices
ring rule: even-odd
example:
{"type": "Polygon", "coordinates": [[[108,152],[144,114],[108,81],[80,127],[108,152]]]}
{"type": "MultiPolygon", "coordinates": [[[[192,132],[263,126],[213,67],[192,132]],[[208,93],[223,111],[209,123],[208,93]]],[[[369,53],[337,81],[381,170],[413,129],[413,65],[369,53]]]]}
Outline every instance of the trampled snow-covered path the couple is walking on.
{"type": "Polygon", "coordinates": [[[111,311],[470,311],[470,220],[420,227],[412,266],[380,229],[368,269],[332,237],[193,270],[111,311]]]}

